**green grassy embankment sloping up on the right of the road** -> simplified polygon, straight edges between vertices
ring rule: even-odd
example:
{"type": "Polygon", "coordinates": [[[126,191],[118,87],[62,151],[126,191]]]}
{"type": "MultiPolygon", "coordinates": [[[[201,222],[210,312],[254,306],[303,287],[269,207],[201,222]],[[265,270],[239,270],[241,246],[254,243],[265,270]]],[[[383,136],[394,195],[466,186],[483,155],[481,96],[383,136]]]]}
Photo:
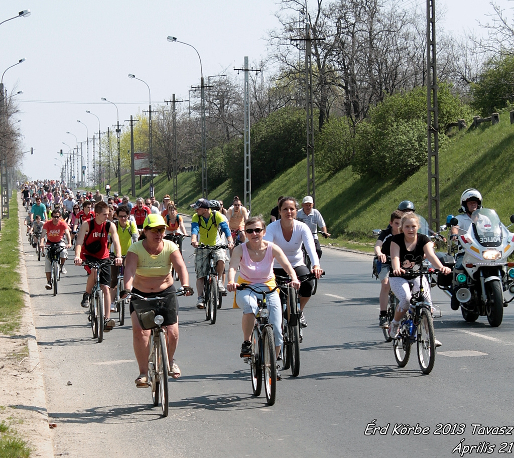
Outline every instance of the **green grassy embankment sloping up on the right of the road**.
{"type": "MultiPolygon", "coordinates": [[[[507,222],[514,213],[510,189],[514,185],[514,126],[509,123],[508,112],[500,114],[500,124],[482,124],[476,130],[455,133],[451,142],[439,150],[440,222],[448,214],[456,214],[464,189],[476,187],[484,197],[484,205],[494,208],[502,221],[507,222]]],[[[259,170],[252,169],[252,174],[259,170]]],[[[269,218],[270,209],[280,195],[301,199],[307,188],[306,161],[286,170],[282,175],[252,193],[252,213],[269,218]]],[[[166,177],[155,180],[158,199],[172,194],[172,181],[166,177]]],[[[123,189],[130,186],[130,176],[123,177],[123,189]]],[[[188,204],[201,195],[193,186],[193,174],[178,176],[179,211],[191,213],[188,204]]],[[[138,187],[138,185],[136,186],[138,187]]],[[[372,251],[375,228],[387,226],[391,212],[402,200],[411,200],[420,215],[428,216],[427,168],[423,167],[406,181],[396,183],[381,177],[360,178],[348,167],[328,176],[316,175],[316,204],[325,218],[328,231],[334,236],[332,243],[372,251]]],[[[148,195],[148,184],[138,189],[138,195],[148,195]]],[[[228,204],[235,195],[243,197],[243,190],[229,189],[227,184],[213,189],[211,199],[223,199],[228,204]]],[[[226,205],[228,206],[228,205],[226,205]]],[[[322,240],[323,242],[323,240],[322,240]]]]}

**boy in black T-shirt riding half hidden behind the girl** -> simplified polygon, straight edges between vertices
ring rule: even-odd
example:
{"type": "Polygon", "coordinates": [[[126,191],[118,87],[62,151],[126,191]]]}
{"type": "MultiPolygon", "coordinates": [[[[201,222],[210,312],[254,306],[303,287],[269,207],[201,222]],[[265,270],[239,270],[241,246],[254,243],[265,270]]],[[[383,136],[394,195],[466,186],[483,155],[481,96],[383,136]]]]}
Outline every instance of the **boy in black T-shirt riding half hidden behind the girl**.
{"type": "Polygon", "coordinates": [[[375,256],[378,258],[377,271],[378,279],[380,280],[380,315],[378,317],[378,326],[381,328],[388,328],[389,323],[387,320],[387,306],[388,297],[391,287],[389,285],[389,270],[391,268],[391,258],[388,260],[388,256],[391,255],[391,237],[400,233],[400,223],[403,213],[399,210],[395,210],[391,214],[391,221],[389,226],[380,232],[378,240],[375,243],[375,256]]]}

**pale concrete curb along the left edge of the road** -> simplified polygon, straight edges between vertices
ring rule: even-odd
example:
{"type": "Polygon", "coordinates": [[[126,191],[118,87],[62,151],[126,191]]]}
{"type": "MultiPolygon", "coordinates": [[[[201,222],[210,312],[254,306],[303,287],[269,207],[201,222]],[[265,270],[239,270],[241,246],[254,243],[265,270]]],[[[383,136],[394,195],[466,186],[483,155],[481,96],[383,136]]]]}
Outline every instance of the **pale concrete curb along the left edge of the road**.
{"type": "MultiPolygon", "coordinates": [[[[20,197],[20,193],[17,193],[17,198],[20,197]]],[[[28,285],[28,278],[27,278],[27,268],[25,264],[25,252],[23,250],[23,228],[25,227],[21,221],[23,221],[23,218],[20,216],[20,209],[18,210],[18,213],[16,215],[18,218],[20,224],[20,233],[19,233],[19,239],[18,239],[18,249],[20,251],[20,254],[23,254],[23,256],[20,256],[20,286],[23,291],[26,292],[24,296],[24,302],[25,302],[25,326],[27,329],[27,347],[29,349],[29,367],[30,367],[30,373],[34,375],[34,394],[32,397],[33,401],[33,409],[36,414],[39,415],[39,423],[38,428],[41,429],[42,436],[44,437],[44,440],[36,444],[37,450],[35,451],[36,456],[41,456],[43,458],[54,458],[53,454],[53,443],[52,443],[52,436],[50,434],[50,428],[49,428],[49,420],[48,420],[48,409],[46,404],[46,394],[45,394],[45,383],[43,380],[43,367],[40,364],[41,358],[38,348],[38,340],[36,337],[36,330],[34,326],[34,313],[32,309],[32,302],[30,300],[30,293],[29,293],[29,285],[28,285]]]]}

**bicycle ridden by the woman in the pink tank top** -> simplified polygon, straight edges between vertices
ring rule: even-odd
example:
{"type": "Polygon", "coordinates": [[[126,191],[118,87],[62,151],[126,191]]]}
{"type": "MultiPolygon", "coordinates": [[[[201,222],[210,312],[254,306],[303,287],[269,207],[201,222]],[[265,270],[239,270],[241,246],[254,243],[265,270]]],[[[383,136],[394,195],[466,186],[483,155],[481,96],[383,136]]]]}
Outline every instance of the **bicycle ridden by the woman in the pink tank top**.
{"type": "Polygon", "coordinates": [[[269,310],[266,307],[266,296],[278,288],[276,286],[272,290],[262,291],[260,288],[253,288],[248,283],[237,287],[238,290],[249,289],[258,296],[258,311],[255,314],[255,326],[251,336],[251,356],[245,357],[244,361],[250,364],[252,390],[255,396],[261,394],[264,375],[264,389],[269,406],[275,403],[277,395],[277,358],[273,325],[268,322],[269,310]],[[259,295],[262,295],[262,299],[259,298],[259,295]]]}

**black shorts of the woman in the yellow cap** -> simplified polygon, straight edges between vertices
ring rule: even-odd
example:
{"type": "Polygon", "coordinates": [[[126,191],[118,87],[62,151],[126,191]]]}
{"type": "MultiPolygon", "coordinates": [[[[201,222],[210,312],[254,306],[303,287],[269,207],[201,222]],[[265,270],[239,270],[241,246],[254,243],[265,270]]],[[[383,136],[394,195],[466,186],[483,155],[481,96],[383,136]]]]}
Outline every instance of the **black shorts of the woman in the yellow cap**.
{"type": "MultiPolygon", "coordinates": [[[[166,297],[166,300],[150,303],[147,302],[146,304],[145,301],[141,299],[131,299],[129,306],[130,314],[132,315],[132,312],[135,311],[133,304],[133,302],[135,302],[136,308],[139,311],[139,323],[143,329],[151,329],[155,327],[151,326],[153,323],[152,319],[150,319],[150,322],[148,323],[146,322],[146,320],[141,321],[140,319],[141,313],[145,314],[152,310],[154,311],[153,316],[163,316],[164,322],[162,323],[162,326],[174,325],[178,321],[178,301],[177,296],[175,295],[176,290],[174,285],[171,285],[171,287],[167,288],[166,290],[159,291],[157,293],[145,293],[143,291],[137,290],[136,288],[133,288],[132,292],[149,299],[152,297],[166,297]]],[[[148,316],[146,318],[148,319],[148,316]]]]}

